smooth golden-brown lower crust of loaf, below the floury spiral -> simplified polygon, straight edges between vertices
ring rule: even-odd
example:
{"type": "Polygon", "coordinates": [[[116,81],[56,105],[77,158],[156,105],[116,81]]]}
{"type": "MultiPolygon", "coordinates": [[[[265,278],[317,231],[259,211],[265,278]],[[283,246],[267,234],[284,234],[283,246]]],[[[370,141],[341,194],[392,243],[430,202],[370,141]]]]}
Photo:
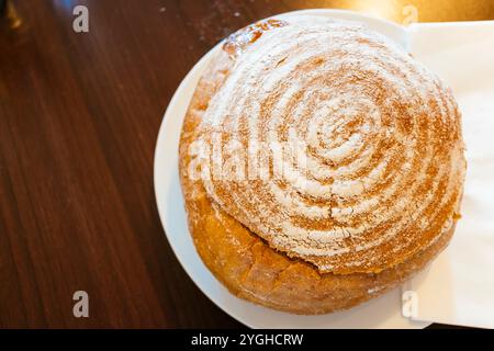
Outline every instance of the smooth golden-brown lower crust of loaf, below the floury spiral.
{"type": "Polygon", "coordinates": [[[449,242],[454,224],[429,246],[379,273],[321,273],[302,259],[289,258],[229,216],[207,195],[201,180],[189,177],[190,145],[211,98],[233,60],[218,50],[201,78],[183,122],[180,180],[195,248],[212,273],[235,295],[295,314],[324,314],[375,297],[423,269],[449,242]]]}

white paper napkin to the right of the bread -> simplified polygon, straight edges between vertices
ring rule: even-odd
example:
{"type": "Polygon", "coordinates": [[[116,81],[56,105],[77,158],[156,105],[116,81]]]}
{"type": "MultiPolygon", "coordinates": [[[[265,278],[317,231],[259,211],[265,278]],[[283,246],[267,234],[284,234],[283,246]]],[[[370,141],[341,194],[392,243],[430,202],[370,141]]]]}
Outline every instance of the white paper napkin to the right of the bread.
{"type": "Polygon", "coordinates": [[[463,115],[467,183],[453,239],[404,290],[413,319],[494,328],[494,21],[420,23],[411,53],[453,90],[463,115]]]}

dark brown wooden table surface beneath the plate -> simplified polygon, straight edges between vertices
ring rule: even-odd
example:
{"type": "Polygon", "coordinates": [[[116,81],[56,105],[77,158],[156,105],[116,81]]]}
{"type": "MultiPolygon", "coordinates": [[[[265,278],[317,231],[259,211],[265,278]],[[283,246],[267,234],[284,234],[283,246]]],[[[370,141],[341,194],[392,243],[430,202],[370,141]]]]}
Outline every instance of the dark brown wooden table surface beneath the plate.
{"type": "Polygon", "coordinates": [[[0,327],[242,327],[176,260],[153,190],[170,98],[255,20],[336,7],[402,22],[494,19],[493,1],[13,0],[0,19],[0,327]],[[89,9],[75,33],[72,9],[89,9]],[[409,10],[409,8],[408,8],[409,10]],[[87,291],[90,317],[72,316],[87,291]]]}

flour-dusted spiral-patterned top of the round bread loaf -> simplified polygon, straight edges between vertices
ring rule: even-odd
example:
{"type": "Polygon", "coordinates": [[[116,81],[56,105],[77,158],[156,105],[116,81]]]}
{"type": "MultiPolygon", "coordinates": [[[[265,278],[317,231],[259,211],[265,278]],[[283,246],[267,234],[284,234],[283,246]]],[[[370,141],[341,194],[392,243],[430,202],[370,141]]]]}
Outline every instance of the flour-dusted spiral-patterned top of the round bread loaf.
{"type": "Polygon", "coordinates": [[[223,156],[267,161],[267,174],[251,177],[259,165],[213,151],[204,188],[272,248],[322,273],[393,267],[457,216],[465,161],[450,91],[357,24],[289,21],[243,47],[200,139],[223,156]]]}

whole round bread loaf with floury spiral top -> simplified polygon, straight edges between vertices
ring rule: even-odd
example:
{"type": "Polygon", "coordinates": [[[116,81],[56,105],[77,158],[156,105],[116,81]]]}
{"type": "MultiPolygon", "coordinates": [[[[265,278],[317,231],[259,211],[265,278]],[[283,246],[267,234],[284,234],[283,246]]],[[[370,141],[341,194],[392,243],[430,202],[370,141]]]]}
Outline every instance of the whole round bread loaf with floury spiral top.
{"type": "Polygon", "coordinates": [[[386,38],[317,16],[261,21],[215,53],[186,115],[190,231],[243,298],[348,308],[449,242],[463,149],[451,92],[386,38]]]}

